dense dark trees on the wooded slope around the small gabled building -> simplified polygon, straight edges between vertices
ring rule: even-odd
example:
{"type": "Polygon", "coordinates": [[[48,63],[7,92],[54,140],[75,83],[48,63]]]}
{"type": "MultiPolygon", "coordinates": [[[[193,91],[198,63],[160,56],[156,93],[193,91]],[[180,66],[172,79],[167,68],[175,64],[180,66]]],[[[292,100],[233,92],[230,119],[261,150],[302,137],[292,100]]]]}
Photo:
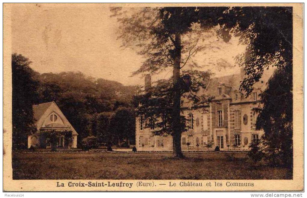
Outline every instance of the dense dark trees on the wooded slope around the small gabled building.
{"type": "Polygon", "coordinates": [[[39,74],[30,63],[22,55],[12,55],[13,148],[26,145],[27,136],[36,131],[32,105],[50,101],[56,102],[78,132],[78,146],[87,136],[113,144],[124,140],[134,143],[132,101],[137,87],[81,72],[39,74]]]}

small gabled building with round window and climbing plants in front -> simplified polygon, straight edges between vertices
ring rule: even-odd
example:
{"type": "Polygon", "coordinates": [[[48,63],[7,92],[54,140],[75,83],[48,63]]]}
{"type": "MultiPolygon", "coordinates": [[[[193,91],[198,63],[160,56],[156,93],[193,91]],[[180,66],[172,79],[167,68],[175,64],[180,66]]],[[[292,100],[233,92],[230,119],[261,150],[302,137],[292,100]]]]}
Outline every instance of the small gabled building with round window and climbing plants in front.
{"type": "Polygon", "coordinates": [[[37,131],[28,136],[28,148],[31,146],[50,148],[50,143],[46,144],[47,140],[43,135],[50,131],[58,133],[56,135],[58,148],[77,148],[78,133],[55,102],[41,103],[32,107],[37,131]],[[65,139],[67,140],[65,132],[72,134],[72,140],[65,142],[65,139]]]}

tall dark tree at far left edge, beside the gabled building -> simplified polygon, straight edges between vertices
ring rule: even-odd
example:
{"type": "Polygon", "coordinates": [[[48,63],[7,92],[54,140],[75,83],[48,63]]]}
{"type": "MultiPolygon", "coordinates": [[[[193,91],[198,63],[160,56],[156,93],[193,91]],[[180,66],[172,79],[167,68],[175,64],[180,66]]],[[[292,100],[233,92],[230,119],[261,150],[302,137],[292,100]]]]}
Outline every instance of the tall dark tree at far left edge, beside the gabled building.
{"type": "Polygon", "coordinates": [[[38,81],[29,67],[27,58],[12,54],[12,144],[13,149],[23,148],[28,135],[36,131],[32,105],[37,102],[38,81]]]}

